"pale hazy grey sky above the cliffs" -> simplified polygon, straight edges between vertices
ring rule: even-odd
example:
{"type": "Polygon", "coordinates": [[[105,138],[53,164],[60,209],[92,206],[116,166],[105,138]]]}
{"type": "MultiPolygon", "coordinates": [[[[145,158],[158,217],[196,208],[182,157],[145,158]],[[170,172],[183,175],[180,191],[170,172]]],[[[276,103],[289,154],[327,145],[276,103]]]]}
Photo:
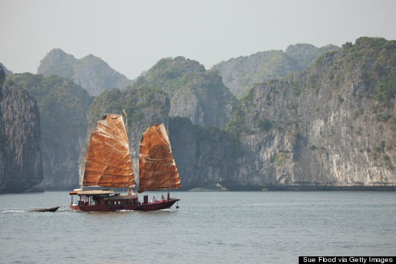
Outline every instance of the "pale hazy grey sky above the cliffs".
{"type": "Polygon", "coordinates": [[[165,57],[206,69],[290,44],[396,39],[396,0],[0,0],[0,62],[36,73],[51,49],[93,54],[129,79],[165,57]]]}

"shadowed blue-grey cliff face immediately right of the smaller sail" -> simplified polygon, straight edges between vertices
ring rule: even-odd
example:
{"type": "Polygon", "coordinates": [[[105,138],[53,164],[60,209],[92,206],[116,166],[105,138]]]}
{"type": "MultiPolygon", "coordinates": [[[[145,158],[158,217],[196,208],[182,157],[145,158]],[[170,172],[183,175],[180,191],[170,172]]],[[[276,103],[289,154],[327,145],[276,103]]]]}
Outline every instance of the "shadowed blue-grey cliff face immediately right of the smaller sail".
{"type": "Polygon", "coordinates": [[[220,129],[193,125],[186,117],[171,118],[170,142],[181,190],[226,182],[239,171],[240,142],[220,129]]]}

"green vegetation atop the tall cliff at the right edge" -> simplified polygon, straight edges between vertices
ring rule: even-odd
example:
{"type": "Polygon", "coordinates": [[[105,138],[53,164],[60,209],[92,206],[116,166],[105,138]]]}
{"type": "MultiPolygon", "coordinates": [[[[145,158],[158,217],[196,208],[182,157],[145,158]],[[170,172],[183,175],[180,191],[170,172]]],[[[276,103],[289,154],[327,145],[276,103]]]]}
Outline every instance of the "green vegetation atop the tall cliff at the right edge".
{"type": "Polygon", "coordinates": [[[358,38],[355,44],[345,43],[338,53],[325,53],[316,61],[315,68],[322,67],[329,63],[329,60],[333,60],[329,73],[326,76],[320,76],[319,79],[315,76],[316,83],[323,83],[325,79],[329,79],[333,85],[333,92],[342,92],[351,82],[364,85],[364,90],[354,90],[354,96],[375,99],[376,102],[373,101],[374,113],[395,105],[395,40],[358,38]]]}

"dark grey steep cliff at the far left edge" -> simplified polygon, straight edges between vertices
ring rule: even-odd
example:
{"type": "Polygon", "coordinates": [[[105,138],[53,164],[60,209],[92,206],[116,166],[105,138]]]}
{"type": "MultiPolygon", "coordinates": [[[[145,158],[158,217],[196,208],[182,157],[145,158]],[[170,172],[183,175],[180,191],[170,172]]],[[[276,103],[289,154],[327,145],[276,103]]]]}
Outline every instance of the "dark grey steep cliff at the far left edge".
{"type": "Polygon", "coordinates": [[[0,192],[23,192],[42,181],[40,115],[33,97],[0,67],[0,192]]]}

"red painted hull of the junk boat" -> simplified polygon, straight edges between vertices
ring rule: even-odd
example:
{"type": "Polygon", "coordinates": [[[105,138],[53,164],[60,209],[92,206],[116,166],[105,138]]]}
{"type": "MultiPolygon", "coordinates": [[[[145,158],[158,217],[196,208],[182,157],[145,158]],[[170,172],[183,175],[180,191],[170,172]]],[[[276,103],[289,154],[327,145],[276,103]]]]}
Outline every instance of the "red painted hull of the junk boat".
{"type": "Polygon", "coordinates": [[[87,211],[87,212],[114,212],[120,210],[126,211],[156,211],[170,208],[176,201],[180,199],[170,199],[166,201],[156,201],[148,204],[131,204],[131,205],[114,205],[114,206],[90,206],[90,205],[70,205],[72,211],[87,211]]]}

